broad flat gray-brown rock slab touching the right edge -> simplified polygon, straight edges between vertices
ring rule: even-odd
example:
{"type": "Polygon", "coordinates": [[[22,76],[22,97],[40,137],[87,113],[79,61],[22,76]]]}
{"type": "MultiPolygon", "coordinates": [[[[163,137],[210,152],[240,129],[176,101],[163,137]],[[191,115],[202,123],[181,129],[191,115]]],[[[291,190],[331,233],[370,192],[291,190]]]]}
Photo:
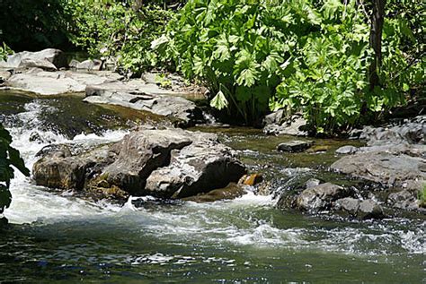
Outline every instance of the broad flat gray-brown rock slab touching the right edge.
{"type": "Polygon", "coordinates": [[[404,154],[366,152],[343,157],[334,170],[386,186],[420,189],[426,180],[426,160],[404,154]]]}

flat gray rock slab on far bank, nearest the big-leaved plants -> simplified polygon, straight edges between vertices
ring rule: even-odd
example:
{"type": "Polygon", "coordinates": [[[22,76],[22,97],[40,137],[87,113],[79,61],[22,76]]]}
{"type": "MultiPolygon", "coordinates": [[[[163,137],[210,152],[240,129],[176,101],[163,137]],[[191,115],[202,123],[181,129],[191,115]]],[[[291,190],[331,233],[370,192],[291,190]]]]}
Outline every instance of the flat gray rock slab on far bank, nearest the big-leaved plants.
{"type": "Polygon", "coordinates": [[[142,80],[89,85],[85,92],[86,102],[118,105],[149,111],[155,115],[174,117],[181,121],[180,126],[204,122],[200,108],[191,100],[182,98],[182,93],[163,90],[155,84],[145,83],[142,80]]]}

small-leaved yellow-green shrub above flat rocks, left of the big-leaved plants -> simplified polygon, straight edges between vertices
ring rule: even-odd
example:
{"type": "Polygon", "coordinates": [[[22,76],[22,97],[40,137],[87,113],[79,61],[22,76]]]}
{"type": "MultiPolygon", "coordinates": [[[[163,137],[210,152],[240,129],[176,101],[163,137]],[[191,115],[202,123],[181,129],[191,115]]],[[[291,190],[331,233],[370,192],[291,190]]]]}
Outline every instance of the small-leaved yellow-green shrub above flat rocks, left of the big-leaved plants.
{"type": "Polygon", "coordinates": [[[151,42],[161,35],[172,12],[156,4],[133,1],[76,0],[67,5],[74,19],[71,41],[92,56],[118,57],[125,72],[140,73],[157,64],[151,42]]]}

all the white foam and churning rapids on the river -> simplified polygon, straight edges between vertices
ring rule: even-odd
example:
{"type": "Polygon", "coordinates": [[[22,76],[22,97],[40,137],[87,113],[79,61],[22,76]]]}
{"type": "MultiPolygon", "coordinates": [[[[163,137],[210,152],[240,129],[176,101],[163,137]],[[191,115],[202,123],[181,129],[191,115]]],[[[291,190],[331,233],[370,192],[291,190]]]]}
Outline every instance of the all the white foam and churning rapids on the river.
{"type": "MultiPolygon", "coordinates": [[[[19,149],[28,168],[37,160],[35,154],[49,143],[78,142],[91,145],[119,141],[127,132],[110,131],[102,136],[80,134],[73,140],[51,131],[41,130],[39,115],[42,106],[30,103],[26,112],[18,116],[25,127],[10,128],[13,147],[19,149]],[[30,142],[32,133],[40,135],[39,142],[30,142]],[[40,142],[41,141],[41,142],[40,142]]],[[[54,109],[52,109],[54,111],[54,109]]],[[[286,169],[289,175],[309,169],[286,169]]],[[[5,216],[13,223],[55,223],[63,220],[91,219],[96,222],[105,216],[112,222],[138,228],[141,234],[156,237],[159,241],[196,243],[199,245],[251,245],[256,247],[284,247],[298,250],[320,250],[343,254],[424,254],[424,228],[412,230],[392,228],[390,225],[372,225],[372,228],[280,228],[273,221],[272,196],[248,192],[233,201],[212,203],[182,202],[171,206],[137,208],[133,201],[154,202],[152,197],[130,198],[123,207],[108,202],[88,202],[72,194],[58,194],[33,185],[31,179],[16,173],[11,185],[13,202],[5,216]],[[265,213],[266,212],[266,213],[265,213]],[[266,217],[265,217],[266,216],[266,217]],[[395,252],[389,251],[398,245],[395,252]]],[[[281,214],[286,214],[281,213],[281,214]]],[[[128,260],[131,264],[184,262],[173,255],[144,254],[128,260]]],[[[188,260],[186,260],[188,261],[188,260]]],[[[212,261],[212,260],[205,260],[212,261]]]]}

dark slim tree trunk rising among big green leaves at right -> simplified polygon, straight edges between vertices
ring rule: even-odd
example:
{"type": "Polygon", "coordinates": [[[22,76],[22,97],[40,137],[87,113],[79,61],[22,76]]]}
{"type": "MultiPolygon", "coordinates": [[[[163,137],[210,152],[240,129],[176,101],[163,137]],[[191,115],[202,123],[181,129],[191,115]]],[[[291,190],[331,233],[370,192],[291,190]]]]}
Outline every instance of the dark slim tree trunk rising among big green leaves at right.
{"type": "Polygon", "coordinates": [[[382,64],[382,30],[385,21],[386,0],[372,0],[373,13],[371,13],[371,30],[369,45],[374,50],[374,59],[369,67],[369,87],[373,90],[378,85],[378,71],[382,64]]]}

